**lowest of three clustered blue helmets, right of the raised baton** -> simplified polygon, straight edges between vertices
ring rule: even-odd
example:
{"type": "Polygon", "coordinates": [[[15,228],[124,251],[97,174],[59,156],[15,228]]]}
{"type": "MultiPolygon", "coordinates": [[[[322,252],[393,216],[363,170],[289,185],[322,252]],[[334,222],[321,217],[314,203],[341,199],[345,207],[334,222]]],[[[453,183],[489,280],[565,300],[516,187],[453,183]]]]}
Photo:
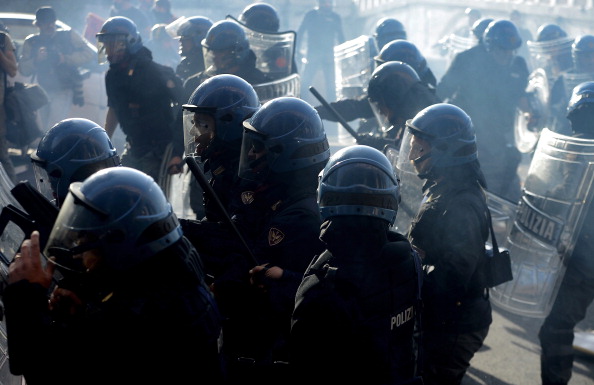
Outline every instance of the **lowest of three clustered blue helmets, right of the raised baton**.
{"type": "Polygon", "coordinates": [[[384,63],[373,71],[367,87],[367,98],[383,130],[390,127],[391,113],[398,110],[408,91],[420,82],[416,71],[400,61],[384,63]]]}

